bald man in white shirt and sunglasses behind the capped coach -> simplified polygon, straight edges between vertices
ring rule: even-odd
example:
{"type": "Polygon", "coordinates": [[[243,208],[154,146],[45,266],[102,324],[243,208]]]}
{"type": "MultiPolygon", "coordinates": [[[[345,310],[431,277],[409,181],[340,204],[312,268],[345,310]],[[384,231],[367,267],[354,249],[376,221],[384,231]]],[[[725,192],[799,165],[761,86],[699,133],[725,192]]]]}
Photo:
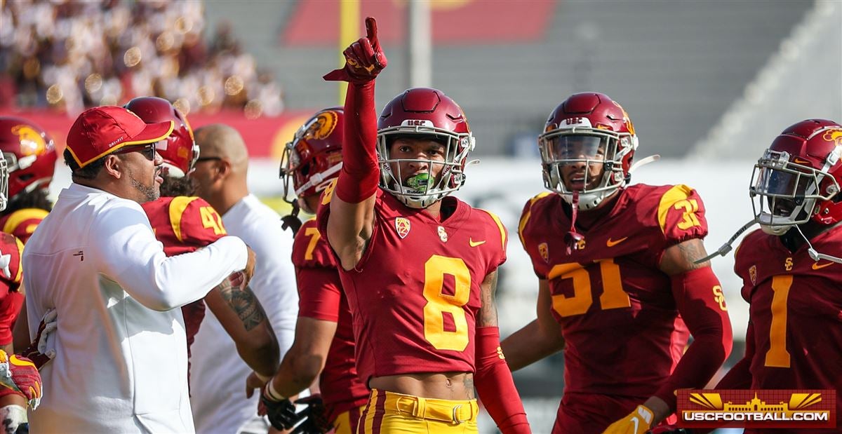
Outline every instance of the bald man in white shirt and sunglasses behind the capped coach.
{"type": "MultiPolygon", "coordinates": [[[[195,140],[200,156],[191,177],[197,193],[221,214],[228,233],[242,238],[260,258],[248,286],[269,317],[283,357],[295,338],[298,316],[293,238],[285,233],[280,216],[248,193],[248,151],[237,131],[211,124],[195,130],[195,140]]],[[[209,313],[192,347],[190,400],[196,431],[266,432],[269,422],[257,415],[258,395],[247,399],[245,394],[252,371],[225,336],[209,313]]]]}

